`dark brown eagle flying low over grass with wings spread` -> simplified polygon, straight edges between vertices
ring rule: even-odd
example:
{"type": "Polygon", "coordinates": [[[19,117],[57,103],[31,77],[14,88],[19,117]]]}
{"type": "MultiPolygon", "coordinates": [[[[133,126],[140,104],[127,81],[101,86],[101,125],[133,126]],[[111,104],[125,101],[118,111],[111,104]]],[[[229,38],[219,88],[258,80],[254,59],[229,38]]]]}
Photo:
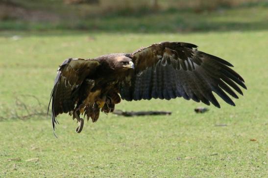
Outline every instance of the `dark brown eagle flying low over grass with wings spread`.
{"type": "MultiPolygon", "coordinates": [[[[120,101],[166,99],[211,103],[220,108],[214,96],[235,106],[230,96],[243,95],[244,79],[229,62],[198,51],[197,45],[162,42],[133,53],[113,53],[94,59],[69,58],[59,66],[50,94],[52,128],[56,116],[69,113],[78,122],[96,122],[99,112],[113,112],[120,101]],[[240,86],[240,87],[239,87],[240,86]],[[235,91],[236,92],[235,92],[235,91]]],[[[48,108],[49,113],[49,108],[48,108]]]]}

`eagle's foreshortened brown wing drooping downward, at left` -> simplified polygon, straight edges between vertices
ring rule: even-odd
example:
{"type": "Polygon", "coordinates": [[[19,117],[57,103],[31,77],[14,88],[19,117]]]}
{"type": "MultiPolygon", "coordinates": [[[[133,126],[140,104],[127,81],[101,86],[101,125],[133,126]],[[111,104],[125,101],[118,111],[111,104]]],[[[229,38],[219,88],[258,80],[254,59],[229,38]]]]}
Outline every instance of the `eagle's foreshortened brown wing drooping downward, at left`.
{"type": "Polygon", "coordinates": [[[97,66],[99,66],[97,60],[70,58],[59,67],[49,101],[53,130],[55,123],[58,123],[55,118],[58,114],[73,111],[78,99],[75,91],[87,76],[95,72],[97,66]]]}

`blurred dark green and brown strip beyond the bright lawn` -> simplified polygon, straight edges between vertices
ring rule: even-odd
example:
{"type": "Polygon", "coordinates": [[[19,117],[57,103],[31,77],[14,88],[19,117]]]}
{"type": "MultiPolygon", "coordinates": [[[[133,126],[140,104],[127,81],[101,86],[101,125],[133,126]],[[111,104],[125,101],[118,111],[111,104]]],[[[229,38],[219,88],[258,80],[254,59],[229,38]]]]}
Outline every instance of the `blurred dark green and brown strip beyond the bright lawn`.
{"type": "Polygon", "coordinates": [[[268,0],[0,0],[0,30],[267,29],[268,0]]]}

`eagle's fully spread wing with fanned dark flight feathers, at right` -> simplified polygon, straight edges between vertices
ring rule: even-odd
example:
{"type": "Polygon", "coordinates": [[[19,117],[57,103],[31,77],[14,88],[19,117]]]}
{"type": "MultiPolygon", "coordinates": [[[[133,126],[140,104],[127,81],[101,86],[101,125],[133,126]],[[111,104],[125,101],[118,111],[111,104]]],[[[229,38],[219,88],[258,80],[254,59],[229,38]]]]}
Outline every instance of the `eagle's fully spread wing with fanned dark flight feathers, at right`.
{"type": "Polygon", "coordinates": [[[246,89],[244,79],[230,68],[232,64],[198,51],[196,47],[188,43],[163,42],[130,54],[135,72],[121,83],[122,99],[183,97],[220,108],[214,91],[235,106],[225,92],[235,98],[238,96],[234,90],[243,95],[238,85],[246,89]]]}

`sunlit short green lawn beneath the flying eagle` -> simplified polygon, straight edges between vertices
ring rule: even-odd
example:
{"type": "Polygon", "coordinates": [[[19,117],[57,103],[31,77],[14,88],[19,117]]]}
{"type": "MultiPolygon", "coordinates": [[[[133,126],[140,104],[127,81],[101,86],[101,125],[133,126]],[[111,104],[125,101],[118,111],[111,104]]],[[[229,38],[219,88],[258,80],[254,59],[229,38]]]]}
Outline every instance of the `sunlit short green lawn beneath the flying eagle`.
{"type": "MultiPolygon", "coordinates": [[[[0,32],[1,116],[15,112],[21,95],[47,105],[57,67],[66,58],[132,52],[162,41],[193,43],[231,62],[248,88],[234,99],[237,106],[220,100],[221,109],[208,106],[208,112],[196,114],[195,107],[205,105],[182,98],[122,101],[116,109],[172,115],[101,114],[76,134],[75,121],[62,114],[58,139],[49,116],[2,119],[0,177],[268,177],[268,31],[0,32]]],[[[36,102],[25,104],[36,109],[36,102]]]]}

